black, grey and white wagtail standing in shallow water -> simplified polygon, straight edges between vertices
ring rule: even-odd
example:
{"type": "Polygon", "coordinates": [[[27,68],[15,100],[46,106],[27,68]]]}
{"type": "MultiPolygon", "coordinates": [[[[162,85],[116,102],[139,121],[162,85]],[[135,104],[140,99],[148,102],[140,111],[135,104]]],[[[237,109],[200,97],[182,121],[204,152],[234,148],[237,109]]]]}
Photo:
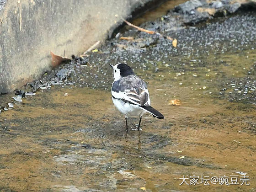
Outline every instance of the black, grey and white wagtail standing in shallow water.
{"type": "Polygon", "coordinates": [[[123,113],[128,131],[128,117],[139,116],[139,126],[142,116],[149,112],[153,117],[163,119],[164,116],[150,106],[149,91],[146,83],[134,74],[133,69],[127,64],[111,65],[114,71],[114,82],[111,88],[112,100],[119,112],[123,113]]]}

